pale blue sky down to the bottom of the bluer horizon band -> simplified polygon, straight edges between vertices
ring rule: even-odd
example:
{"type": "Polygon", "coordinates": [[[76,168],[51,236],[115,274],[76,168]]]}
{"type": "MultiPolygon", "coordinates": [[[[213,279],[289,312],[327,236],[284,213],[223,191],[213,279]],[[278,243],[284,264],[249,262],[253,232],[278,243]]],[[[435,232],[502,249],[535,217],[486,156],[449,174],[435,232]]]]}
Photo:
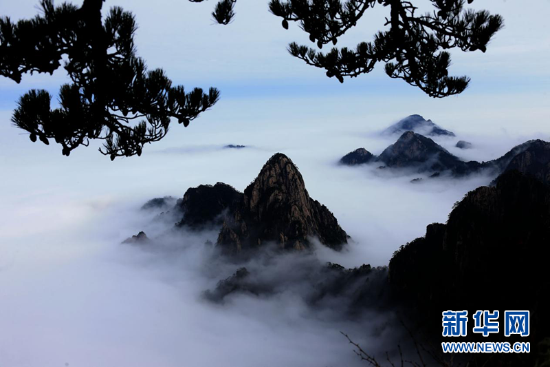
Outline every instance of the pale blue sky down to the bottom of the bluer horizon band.
{"type": "MultiPolygon", "coordinates": [[[[74,1],[78,3],[78,1],[74,1]]],[[[36,0],[3,1],[2,14],[21,19],[36,14],[36,0]]],[[[428,1],[421,1],[426,6],[428,1]]],[[[163,67],[176,83],[189,87],[219,87],[224,98],[279,95],[377,94],[410,98],[419,95],[413,87],[393,81],[382,72],[345,81],[328,79],[322,70],[309,67],[285,51],[291,41],[311,44],[307,34],[291,25],[284,30],[277,17],[267,12],[267,1],[240,0],[236,19],[228,26],[215,25],[210,17],[214,1],[107,1],[104,8],[122,6],[131,10],[139,29],[135,36],[138,54],[150,67],[163,67]]],[[[550,1],[474,1],[472,6],[502,14],[505,29],[496,34],[487,52],[454,52],[454,74],[467,74],[472,84],[464,95],[548,92],[550,34],[546,14],[550,1]]],[[[358,27],[350,30],[340,45],[370,41],[382,26],[387,10],[369,10],[358,27]]],[[[63,72],[55,77],[28,76],[21,85],[0,81],[1,106],[29,87],[56,90],[63,72]]],[[[12,102],[13,105],[13,102],[12,102]]]]}

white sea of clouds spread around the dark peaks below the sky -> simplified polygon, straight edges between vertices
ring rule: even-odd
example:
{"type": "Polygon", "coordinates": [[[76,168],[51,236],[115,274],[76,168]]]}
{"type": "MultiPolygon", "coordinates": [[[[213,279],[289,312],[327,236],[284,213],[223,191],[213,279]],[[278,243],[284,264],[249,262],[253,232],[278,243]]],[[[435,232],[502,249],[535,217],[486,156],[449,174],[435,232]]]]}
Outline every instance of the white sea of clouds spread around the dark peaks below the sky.
{"type": "MultiPolygon", "coordinates": [[[[346,300],[337,298],[309,304],[316,269],[325,262],[387,265],[399,246],[422,236],[427,224],[445,222],[454,202],[493,178],[413,184],[418,174],[338,165],[358,147],[380,154],[397,137],[378,133],[404,116],[387,113],[368,124],[350,117],[345,129],[329,118],[298,124],[276,114],[261,125],[219,120],[208,129],[175,129],[142,157],[112,163],[93,148],[65,158],[55,147],[24,145],[28,151],[5,159],[3,167],[3,365],[364,365],[341,331],[375,355],[395,350],[406,335],[393,310],[372,306],[348,313],[346,300]],[[224,149],[228,144],[248,147],[224,149]],[[294,161],[311,198],[333,211],[351,235],[343,251],[317,245],[311,253],[258,255],[236,264],[205,244],[215,242],[217,231],[175,233],[173,218],[159,220],[157,212],[140,209],[151,198],[181,198],[200,184],[221,181],[243,191],[277,151],[294,161]],[[153,244],[121,244],[139,231],[153,244]],[[272,291],[205,299],[205,291],[241,266],[272,291]]],[[[452,119],[433,119],[457,134],[437,143],[465,160],[497,158],[529,138],[544,138],[535,127],[487,140],[490,128],[464,132],[452,119]],[[454,148],[459,139],[474,148],[454,148]]]]}

